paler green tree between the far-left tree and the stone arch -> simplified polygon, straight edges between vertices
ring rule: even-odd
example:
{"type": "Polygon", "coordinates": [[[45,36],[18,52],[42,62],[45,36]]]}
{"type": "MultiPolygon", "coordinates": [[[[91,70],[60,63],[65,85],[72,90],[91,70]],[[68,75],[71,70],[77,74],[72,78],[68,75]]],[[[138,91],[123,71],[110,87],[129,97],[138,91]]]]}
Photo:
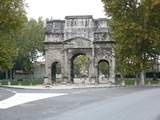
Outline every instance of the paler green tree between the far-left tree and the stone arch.
{"type": "Polygon", "coordinates": [[[15,61],[15,69],[31,72],[33,62],[37,60],[38,52],[43,52],[44,21],[31,19],[27,21],[23,29],[16,34],[18,57],[15,61]]]}

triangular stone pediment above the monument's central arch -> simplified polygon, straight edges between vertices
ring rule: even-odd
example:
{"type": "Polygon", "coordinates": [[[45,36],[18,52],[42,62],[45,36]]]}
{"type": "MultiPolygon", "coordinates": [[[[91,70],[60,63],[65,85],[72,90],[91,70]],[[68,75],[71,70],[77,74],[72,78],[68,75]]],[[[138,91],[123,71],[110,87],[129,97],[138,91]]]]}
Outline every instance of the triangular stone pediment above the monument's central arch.
{"type": "Polygon", "coordinates": [[[64,41],[65,45],[71,48],[91,47],[92,41],[82,37],[71,38],[64,41]]]}

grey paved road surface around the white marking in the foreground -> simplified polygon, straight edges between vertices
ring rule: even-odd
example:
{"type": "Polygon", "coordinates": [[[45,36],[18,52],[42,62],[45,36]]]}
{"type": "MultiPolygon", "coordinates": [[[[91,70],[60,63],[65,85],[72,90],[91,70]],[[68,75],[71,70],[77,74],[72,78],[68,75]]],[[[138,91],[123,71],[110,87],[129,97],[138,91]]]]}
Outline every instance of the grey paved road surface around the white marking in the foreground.
{"type": "Polygon", "coordinates": [[[0,109],[0,120],[160,120],[160,88],[10,90],[68,94],[0,109]]]}

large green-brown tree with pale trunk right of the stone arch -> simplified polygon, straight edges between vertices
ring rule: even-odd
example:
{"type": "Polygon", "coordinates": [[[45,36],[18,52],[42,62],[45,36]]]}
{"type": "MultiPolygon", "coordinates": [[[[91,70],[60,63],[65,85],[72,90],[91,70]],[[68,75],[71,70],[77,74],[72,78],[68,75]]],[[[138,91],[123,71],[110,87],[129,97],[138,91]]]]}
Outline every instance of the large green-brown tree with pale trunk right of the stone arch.
{"type": "Polygon", "coordinates": [[[160,54],[159,0],[102,0],[112,36],[119,71],[125,74],[144,74],[160,54]]]}

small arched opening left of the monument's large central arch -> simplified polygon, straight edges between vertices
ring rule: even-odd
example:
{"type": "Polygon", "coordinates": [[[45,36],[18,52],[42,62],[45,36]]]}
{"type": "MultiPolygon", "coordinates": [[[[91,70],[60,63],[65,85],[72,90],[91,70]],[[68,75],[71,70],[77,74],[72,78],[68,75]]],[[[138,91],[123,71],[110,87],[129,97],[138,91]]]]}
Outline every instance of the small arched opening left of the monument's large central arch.
{"type": "Polygon", "coordinates": [[[54,62],[51,68],[51,79],[53,82],[58,82],[61,80],[61,64],[59,62],[54,62]]]}

